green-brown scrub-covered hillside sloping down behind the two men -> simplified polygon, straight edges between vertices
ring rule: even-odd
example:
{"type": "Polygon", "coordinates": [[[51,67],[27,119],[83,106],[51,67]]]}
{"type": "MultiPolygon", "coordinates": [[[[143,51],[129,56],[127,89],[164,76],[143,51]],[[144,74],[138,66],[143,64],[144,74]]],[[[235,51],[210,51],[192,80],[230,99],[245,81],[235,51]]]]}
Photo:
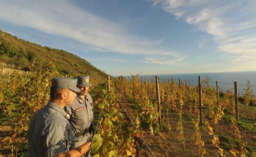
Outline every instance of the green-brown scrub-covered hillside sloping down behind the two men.
{"type": "Polygon", "coordinates": [[[41,68],[46,61],[51,61],[63,75],[84,74],[101,80],[107,77],[105,72],[95,68],[85,59],[64,50],[42,47],[2,30],[0,30],[0,42],[0,62],[16,65],[21,70],[34,71],[41,68]]]}

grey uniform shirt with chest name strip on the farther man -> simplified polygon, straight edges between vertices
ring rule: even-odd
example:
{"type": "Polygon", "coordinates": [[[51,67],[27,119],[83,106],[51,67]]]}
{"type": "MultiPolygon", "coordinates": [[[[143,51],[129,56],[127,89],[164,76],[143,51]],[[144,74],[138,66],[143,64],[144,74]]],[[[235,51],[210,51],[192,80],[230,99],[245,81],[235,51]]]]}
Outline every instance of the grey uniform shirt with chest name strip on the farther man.
{"type": "MultiPolygon", "coordinates": [[[[86,95],[86,98],[77,96],[72,105],[66,106],[64,110],[68,112],[70,122],[75,128],[76,133],[87,130],[93,122],[93,102],[90,94],[86,95]]],[[[83,145],[90,138],[90,133],[87,132],[84,135],[76,137],[75,147],[83,145]]]]}

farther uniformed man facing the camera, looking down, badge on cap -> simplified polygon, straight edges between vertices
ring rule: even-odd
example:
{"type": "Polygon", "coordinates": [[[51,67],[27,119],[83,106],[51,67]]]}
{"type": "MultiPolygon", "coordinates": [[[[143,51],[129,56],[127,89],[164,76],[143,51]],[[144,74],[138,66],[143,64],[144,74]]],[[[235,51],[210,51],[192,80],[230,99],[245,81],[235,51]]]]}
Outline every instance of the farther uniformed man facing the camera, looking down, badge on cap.
{"type": "MultiPolygon", "coordinates": [[[[89,82],[89,76],[76,76],[77,88],[81,92],[76,92],[72,105],[65,107],[64,109],[71,115],[70,122],[75,128],[75,146],[81,146],[90,137],[92,131],[93,122],[93,102],[92,97],[88,94],[89,87],[92,84],[89,82]]],[[[88,156],[89,154],[86,154],[88,156]]]]}

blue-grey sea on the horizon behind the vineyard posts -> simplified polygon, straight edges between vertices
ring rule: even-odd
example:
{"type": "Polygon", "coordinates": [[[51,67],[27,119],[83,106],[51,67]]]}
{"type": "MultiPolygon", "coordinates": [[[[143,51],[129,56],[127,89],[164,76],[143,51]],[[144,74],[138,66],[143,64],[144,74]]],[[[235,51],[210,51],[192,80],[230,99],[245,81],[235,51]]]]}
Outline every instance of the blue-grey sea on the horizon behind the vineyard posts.
{"type": "MultiPolygon", "coordinates": [[[[145,80],[145,77],[150,77],[153,81],[155,81],[156,75],[140,75],[145,80]]],[[[246,89],[247,80],[250,80],[250,85],[252,87],[252,91],[254,95],[256,95],[256,71],[245,71],[245,72],[215,72],[215,73],[193,73],[193,74],[159,74],[157,75],[160,79],[160,82],[164,82],[165,79],[173,78],[176,80],[176,83],[179,83],[179,79],[185,83],[185,81],[191,80],[191,85],[198,86],[198,76],[201,76],[201,80],[203,81],[206,76],[210,78],[211,87],[216,87],[216,81],[218,81],[220,91],[226,92],[227,90],[231,90],[234,92],[234,81],[237,82],[238,94],[241,96],[246,89]]],[[[126,78],[131,78],[131,76],[124,76],[126,78]]]]}

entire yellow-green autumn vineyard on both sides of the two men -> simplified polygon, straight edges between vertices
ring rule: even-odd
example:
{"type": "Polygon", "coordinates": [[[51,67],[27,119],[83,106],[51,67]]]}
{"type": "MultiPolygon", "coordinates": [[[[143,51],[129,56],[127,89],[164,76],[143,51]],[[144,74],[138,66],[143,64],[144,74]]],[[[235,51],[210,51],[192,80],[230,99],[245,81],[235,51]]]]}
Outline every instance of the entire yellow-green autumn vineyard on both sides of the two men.
{"type": "MultiPolygon", "coordinates": [[[[29,119],[49,101],[56,76],[61,74],[52,63],[33,73],[1,75],[0,156],[28,156],[29,119]]],[[[237,102],[231,90],[212,88],[209,77],[198,86],[154,80],[94,80],[92,156],[256,156],[256,99],[249,80],[237,102]]]]}

